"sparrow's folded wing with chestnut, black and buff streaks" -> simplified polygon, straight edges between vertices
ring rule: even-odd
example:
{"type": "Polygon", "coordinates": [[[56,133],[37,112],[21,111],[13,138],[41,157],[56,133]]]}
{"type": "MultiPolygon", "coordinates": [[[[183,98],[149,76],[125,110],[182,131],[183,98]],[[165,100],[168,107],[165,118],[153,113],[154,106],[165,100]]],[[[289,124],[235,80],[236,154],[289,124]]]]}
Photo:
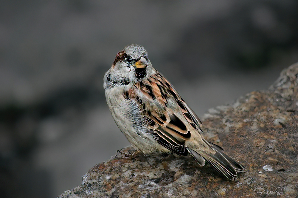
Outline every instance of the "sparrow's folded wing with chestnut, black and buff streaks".
{"type": "Polygon", "coordinates": [[[153,78],[135,84],[135,100],[150,133],[162,146],[182,156],[191,131],[202,133],[201,121],[173,86],[158,72],[153,78]]]}

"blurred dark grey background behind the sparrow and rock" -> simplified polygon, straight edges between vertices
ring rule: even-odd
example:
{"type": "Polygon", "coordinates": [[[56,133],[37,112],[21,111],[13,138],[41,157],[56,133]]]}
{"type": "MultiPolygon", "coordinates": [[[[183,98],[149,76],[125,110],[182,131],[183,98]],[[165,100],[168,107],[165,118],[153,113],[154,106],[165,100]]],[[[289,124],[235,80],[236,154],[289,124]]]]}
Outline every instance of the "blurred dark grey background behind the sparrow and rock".
{"type": "Polygon", "coordinates": [[[294,0],[0,2],[0,194],[56,197],[129,145],[103,75],[125,45],[202,117],[298,61],[294,0]]]}

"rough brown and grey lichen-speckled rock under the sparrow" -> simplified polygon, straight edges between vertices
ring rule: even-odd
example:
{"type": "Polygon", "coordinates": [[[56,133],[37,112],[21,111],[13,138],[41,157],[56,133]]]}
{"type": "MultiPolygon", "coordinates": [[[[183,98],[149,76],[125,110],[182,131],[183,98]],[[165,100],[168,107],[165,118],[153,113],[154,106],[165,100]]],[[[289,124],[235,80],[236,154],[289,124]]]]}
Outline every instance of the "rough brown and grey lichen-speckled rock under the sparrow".
{"type": "Polygon", "coordinates": [[[254,91],[209,110],[206,138],[246,167],[230,181],[191,157],[122,149],[83,176],[66,197],[298,197],[298,63],[268,91],[254,91]]]}

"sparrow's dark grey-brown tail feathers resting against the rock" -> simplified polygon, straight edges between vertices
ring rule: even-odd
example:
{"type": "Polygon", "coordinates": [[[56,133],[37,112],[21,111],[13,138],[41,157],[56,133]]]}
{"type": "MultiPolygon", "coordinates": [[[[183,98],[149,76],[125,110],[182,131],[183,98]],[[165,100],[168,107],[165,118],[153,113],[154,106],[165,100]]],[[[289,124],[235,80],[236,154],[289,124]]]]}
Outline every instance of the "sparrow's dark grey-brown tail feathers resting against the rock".
{"type": "Polygon", "coordinates": [[[244,172],[245,168],[234,159],[230,158],[222,151],[223,148],[209,142],[209,145],[215,150],[215,154],[207,154],[187,148],[191,155],[201,166],[205,165],[205,160],[220,174],[225,175],[230,180],[237,178],[237,172],[244,172]]]}

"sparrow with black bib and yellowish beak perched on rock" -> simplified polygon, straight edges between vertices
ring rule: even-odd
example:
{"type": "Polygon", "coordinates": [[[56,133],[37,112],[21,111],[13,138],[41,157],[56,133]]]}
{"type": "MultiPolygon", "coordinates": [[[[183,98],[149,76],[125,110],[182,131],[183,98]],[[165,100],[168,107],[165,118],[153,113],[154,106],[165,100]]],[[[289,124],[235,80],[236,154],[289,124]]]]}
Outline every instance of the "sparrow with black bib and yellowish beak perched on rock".
{"type": "Polygon", "coordinates": [[[105,97],[120,131],[144,154],[156,151],[206,161],[230,180],[245,168],[204,139],[202,122],[171,83],[153,68],[141,45],[117,53],[104,76],[105,97]]]}

